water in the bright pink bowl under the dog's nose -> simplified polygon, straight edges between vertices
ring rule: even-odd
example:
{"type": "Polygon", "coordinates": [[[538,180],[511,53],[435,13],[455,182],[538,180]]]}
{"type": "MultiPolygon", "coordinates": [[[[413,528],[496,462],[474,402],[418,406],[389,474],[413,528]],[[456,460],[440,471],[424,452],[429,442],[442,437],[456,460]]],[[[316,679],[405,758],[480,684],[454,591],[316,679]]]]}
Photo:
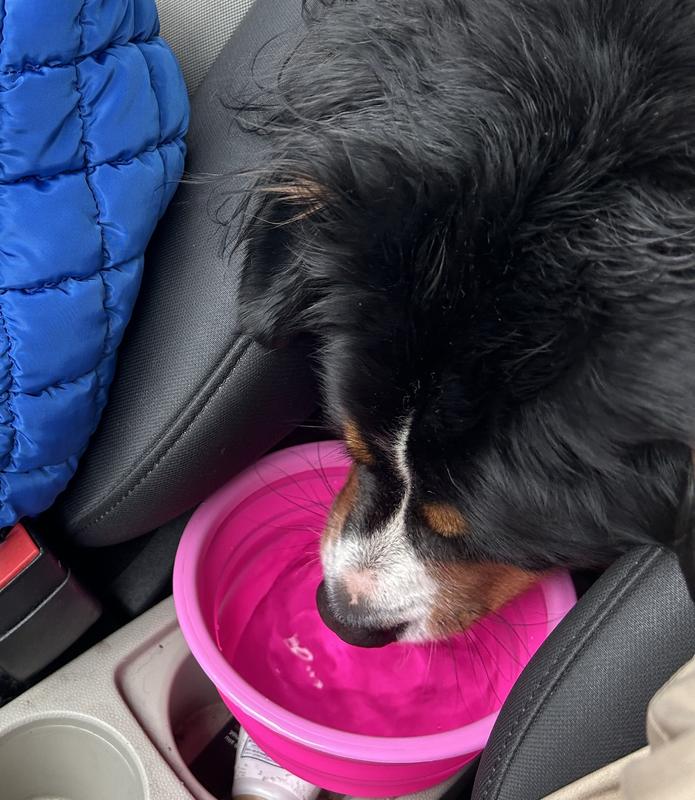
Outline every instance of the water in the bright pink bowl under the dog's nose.
{"type": "Polygon", "coordinates": [[[257,556],[239,577],[266,586],[253,608],[240,609],[232,583],[219,608],[218,644],[248,683],[305,719],[388,737],[461,727],[500,707],[545,633],[543,593],[534,587],[523,613],[511,604],[445,642],[348,645],[316,609],[316,534],[302,536],[294,522],[283,529],[275,520],[273,528],[265,566],[257,556]]]}

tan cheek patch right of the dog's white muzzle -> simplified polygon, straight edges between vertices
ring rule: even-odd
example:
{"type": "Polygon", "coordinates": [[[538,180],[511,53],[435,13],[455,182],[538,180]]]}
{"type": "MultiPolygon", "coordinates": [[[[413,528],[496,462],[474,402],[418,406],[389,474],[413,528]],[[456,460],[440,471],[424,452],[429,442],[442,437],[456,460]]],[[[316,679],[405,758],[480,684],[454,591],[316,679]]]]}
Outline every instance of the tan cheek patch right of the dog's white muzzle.
{"type": "Polygon", "coordinates": [[[434,638],[465,630],[543,577],[539,572],[493,563],[431,563],[428,573],[439,587],[428,620],[434,638]]]}

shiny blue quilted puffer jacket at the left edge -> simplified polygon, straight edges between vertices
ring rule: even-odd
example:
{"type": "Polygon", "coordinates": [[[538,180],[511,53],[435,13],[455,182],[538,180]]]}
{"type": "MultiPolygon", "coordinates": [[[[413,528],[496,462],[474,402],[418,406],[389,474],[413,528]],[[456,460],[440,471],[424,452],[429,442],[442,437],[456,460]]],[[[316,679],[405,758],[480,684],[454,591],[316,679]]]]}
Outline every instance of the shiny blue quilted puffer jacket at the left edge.
{"type": "Polygon", "coordinates": [[[0,526],[96,427],[187,122],[154,0],[0,0],[0,526]]]}

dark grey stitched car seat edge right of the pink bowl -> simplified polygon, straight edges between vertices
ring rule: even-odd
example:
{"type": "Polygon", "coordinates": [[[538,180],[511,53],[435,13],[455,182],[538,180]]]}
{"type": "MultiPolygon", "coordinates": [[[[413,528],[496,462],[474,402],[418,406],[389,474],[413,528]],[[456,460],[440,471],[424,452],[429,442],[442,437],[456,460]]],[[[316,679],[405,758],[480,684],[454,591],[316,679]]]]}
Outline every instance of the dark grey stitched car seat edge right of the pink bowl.
{"type": "Polygon", "coordinates": [[[695,605],[678,560],[618,560],[543,644],[507,698],[473,800],[539,800],[643,747],[654,693],[693,654],[695,605]]]}

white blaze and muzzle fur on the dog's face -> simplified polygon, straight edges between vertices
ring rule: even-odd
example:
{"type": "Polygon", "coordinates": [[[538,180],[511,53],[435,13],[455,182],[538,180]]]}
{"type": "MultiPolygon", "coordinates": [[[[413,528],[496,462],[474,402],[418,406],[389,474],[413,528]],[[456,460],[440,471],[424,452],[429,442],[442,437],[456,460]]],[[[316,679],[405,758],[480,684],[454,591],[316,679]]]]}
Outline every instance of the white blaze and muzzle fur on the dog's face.
{"type": "Polygon", "coordinates": [[[427,574],[405,532],[405,519],[412,493],[408,463],[409,416],[396,435],[392,449],[393,466],[401,480],[403,494],[398,508],[379,530],[365,536],[339,537],[323,554],[324,573],[330,585],[350,572],[369,571],[373,586],[368,595],[373,612],[365,625],[392,627],[408,623],[405,638],[427,636],[426,620],[432,609],[436,584],[427,574]]]}

